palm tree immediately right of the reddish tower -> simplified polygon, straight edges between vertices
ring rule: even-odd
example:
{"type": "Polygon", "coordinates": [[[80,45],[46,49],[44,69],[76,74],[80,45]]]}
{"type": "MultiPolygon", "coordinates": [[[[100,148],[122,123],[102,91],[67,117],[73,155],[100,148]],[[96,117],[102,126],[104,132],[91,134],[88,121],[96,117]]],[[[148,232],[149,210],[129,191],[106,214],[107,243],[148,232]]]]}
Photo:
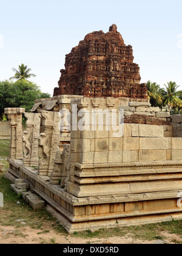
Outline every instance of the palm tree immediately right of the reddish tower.
{"type": "Polygon", "coordinates": [[[157,83],[147,81],[148,98],[152,107],[163,107],[163,89],[157,83]]]}

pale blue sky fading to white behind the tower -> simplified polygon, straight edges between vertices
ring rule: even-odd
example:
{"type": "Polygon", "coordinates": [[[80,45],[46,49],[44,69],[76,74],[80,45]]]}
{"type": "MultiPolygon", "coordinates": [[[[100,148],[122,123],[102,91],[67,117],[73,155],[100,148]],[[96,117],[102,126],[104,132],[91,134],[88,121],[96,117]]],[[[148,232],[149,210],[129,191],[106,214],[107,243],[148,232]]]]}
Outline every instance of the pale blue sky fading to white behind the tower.
{"type": "Polygon", "coordinates": [[[24,63],[42,92],[58,87],[65,55],[93,31],[118,26],[133,46],[141,82],[182,90],[181,0],[0,0],[0,80],[24,63]]]}

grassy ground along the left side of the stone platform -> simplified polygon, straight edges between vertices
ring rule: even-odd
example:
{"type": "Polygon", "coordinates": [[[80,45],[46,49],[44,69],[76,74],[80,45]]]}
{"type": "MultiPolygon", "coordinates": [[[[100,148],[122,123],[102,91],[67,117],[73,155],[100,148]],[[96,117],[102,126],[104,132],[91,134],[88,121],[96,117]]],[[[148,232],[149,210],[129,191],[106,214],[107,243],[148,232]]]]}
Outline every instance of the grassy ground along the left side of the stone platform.
{"type": "Polygon", "coordinates": [[[0,191],[4,194],[4,207],[0,208],[0,223],[2,226],[22,227],[21,222],[16,220],[24,219],[26,225],[32,229],[41,229],[44,232],[44,227],[46,227],[46,232],[48,232],[49,228],[53,227],[56,232],[66,234],[64,227],[49,212],[46,210],[37,210],[35,212],[25,204],[24,200],[19,198],[10,188],[10,183],[0,174],[0,191]],[[18,205],[18,201],[21,204],[18,205]]]}

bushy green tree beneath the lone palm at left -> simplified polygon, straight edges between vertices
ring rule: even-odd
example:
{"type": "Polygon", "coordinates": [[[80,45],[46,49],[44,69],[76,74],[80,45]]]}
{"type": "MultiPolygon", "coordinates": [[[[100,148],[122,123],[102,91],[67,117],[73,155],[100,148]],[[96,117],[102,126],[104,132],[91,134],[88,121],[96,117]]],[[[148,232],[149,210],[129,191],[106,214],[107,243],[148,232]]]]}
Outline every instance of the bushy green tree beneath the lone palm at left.
{"type": "Polygon", "coordinates": [[[38,85],[25,79],[15,83],[8,80],[0,82],[0,118],[6,107],[23,107],[29,112],[36,99],[50,97],[49,93],[42,93],[38,85]]]}

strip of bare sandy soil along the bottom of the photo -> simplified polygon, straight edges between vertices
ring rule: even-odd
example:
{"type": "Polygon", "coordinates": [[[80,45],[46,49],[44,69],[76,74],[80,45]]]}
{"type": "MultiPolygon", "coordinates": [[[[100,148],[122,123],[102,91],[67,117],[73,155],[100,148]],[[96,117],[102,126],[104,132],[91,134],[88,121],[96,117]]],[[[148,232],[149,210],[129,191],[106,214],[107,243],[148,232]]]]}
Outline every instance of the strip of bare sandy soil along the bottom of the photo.
{"type": "Polygon", "coordinates": [[[142,241],[132,238],[132,234],[127,234],[123,237],[111,237],[106,239],[90,238],[84,239],[70,235],[59,235],[55,230],[51,229],[49,233],[44,233],[42,230],[35,230],[30,227],[7,227],[0,225],[0,244],[156,244],[156,243],[175,243],[181,241],[178,235],[161,232],[161,235],[166,236],[165,241],[142,241]]]}

